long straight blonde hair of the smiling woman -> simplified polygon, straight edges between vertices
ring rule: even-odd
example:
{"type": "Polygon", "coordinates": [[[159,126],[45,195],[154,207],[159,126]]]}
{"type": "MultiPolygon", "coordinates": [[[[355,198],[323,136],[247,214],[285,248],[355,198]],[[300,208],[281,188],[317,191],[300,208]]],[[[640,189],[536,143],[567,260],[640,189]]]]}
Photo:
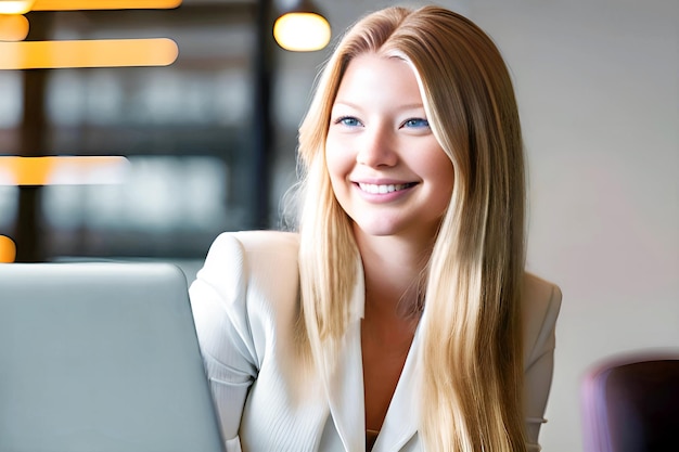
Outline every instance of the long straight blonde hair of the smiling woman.
{"type": "Polygon", "coordinates": [[[521,285],[525,182],[510,75],[490,38],[446,9],[393,7],[351,27],[299,129],[302,338],[330,372],[359,262],[325,167],[330,112],[349,62],[398,54],[420,81],[454,186],[428,262],[420,435],[430,451],[525,450],[521,285]]]}

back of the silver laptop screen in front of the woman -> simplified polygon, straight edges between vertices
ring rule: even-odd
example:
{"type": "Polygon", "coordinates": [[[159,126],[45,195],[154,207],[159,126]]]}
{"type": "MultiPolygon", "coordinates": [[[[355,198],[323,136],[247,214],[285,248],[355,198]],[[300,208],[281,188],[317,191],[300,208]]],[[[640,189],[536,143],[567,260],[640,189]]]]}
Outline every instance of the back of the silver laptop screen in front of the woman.
{"type": "Polygon", "coordinates": [[[221,452],[169,263],[0,264],[1,452],[221,452]]]}

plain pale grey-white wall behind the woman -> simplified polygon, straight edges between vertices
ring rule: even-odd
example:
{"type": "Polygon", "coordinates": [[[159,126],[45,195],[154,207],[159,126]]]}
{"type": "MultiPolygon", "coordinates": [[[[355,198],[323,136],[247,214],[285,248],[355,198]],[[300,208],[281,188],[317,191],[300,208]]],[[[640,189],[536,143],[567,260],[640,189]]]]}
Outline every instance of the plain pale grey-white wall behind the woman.
{"type": "MultiPolygon", "coordinates": [[[[318,1],[335,33],[394,3],[318,1]]],[[[584,372],[622,352],[679,350],[679,1],[438,3],[486,29],[515,77],[528,269],[564,294],[541,443],[577,452],[584,372]]],[[[308,89],[322,59],[285,55],[281,83],[308,89]]],[[[293,126],[304,106],[286,112],[293,126]]]]}

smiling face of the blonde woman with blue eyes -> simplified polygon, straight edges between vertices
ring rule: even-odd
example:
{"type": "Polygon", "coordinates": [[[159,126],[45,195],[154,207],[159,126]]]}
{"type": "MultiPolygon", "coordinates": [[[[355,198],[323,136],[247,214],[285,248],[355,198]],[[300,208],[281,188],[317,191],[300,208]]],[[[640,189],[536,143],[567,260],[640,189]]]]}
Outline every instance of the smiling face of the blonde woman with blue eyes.
{"type": "Polygon", "coordinates": [[[452,163],[430,128],[408,63],[374,54],[349,63],[325,157],[356,233],[431,241],[452,193],[452,163]]]}

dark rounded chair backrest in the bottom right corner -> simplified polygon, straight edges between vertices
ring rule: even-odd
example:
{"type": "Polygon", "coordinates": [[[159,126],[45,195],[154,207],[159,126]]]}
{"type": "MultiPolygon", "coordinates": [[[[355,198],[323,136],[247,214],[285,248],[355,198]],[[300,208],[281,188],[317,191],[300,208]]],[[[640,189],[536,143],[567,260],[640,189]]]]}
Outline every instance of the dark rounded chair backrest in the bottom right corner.
{"type": "Polygon", "coordinates": [[[581,397],[585,452],[679,451],[679,351],[599,363],[581,397]]]}

